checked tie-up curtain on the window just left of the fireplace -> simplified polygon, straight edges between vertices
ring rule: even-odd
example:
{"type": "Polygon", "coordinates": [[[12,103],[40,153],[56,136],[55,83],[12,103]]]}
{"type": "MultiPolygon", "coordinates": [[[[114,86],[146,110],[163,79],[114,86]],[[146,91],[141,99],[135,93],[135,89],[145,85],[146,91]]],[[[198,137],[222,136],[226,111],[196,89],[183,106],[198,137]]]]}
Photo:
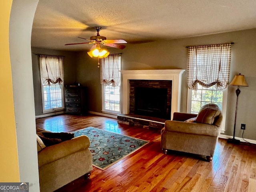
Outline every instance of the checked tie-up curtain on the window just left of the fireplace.
{"type": "Polygon", "coordinates": [[[119,54],[100,59],[100,84],[118,86],[119,82],[119,54]]]}

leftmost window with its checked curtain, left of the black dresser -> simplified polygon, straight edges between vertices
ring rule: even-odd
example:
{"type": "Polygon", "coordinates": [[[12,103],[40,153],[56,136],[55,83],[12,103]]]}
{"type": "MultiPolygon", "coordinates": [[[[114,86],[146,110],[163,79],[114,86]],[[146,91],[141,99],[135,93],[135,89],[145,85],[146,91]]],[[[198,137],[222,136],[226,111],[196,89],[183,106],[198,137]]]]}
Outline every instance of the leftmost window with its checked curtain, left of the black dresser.
{"type": "Polygon", "coordinates": [[[63,57],[40,55],[43,113],[64,108],[63,57]]]}

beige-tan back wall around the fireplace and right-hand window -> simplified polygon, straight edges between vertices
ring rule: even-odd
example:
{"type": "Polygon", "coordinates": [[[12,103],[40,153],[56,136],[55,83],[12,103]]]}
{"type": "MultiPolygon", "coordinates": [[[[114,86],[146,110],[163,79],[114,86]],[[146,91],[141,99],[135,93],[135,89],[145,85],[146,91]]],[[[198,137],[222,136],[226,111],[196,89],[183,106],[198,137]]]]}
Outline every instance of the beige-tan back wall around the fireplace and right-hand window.
{"type": "MultiPolygon", "coordinates": [[[[192,38],[183,38],[145,44],[127,44],[124,50],[110,48],[111,53],[122,52],[122,70],[142,69],[186,69],[188,50],[186,46],[234,42],[232,45],[230,81],[235,74],[245,75],[249,87],[240,87],[236,121],[236,136],[242,137],[241,123],[246,124],[244,138],[256,140],[256,118],[252,118],[256,108],[256,29],[228,32],[192,38]]],[[[77,81],[88,86],[89,110],[101,112],[100,75],[98,61],[86,52],[78,53],[77,81]]],[[[181,111],[186,112],[187,84],[186,72],[182,74],[181,111]]],[[[226,135],[232,136],[236,106],[236,87],[228,86],[226,114],[226,135]]]]}

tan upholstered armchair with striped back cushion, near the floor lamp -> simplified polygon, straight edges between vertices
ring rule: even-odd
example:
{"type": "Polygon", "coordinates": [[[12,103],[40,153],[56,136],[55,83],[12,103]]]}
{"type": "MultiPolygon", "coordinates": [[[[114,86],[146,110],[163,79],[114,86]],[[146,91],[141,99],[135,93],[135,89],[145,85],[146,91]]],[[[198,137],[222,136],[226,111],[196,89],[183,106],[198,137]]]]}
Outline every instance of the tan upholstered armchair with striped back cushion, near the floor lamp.
{"type": "Polygon", "coordinates": [[[203,106],[198,114],[175,112],[161,130],[164,154],[168,150],[199,154],[212,161],[220,135],[222,113],[216,104],[203,106]]]}

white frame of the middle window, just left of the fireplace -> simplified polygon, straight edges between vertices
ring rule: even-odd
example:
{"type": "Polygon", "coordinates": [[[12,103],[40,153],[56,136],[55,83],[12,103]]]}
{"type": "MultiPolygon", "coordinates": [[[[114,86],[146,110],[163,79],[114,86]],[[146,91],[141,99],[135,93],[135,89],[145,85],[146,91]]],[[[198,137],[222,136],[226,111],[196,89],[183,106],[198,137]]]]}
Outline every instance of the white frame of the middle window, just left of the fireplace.
{"type": "MultiPolygon", "coordinates": [[[[121,101],[121,98],[122,98],[122,78],[121,78],[121,67],[122,67],[122,56],[118,56],[118,65],[119,65],[119,78],[120,78],[120,82],[119,82],[119,93],[120,93],[120,98],[119,98],[119,111],[114,111],[114,110],[107,110],[105,109],[105,92],[104,92],[104,85],[101,86],[101,93],[102,93],[102,112],[107,112],[107,113],[110,113],[110,114],[120,114],[121,111],[122,111],[122,101],[121,101]]],[[[110,85],[111,86],[111,85],[110,85]]]]}

